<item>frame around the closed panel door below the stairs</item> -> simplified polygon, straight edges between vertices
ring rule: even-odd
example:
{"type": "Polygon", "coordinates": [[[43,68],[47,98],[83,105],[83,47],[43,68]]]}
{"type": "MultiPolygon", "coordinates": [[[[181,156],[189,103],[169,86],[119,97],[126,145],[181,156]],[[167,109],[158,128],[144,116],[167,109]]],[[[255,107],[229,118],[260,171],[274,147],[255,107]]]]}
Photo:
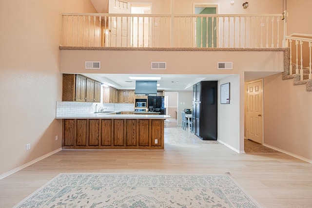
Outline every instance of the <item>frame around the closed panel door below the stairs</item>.
{"type": "Polygon", "coordinates": [[[264,102],[263,102],[263,82],[264,82],[264,79],[263,78],[260,78],[260,79],[255,79],[253,81],[249,81],[249,82],[245,82],[245,92],[246,92],[246,95],[245,95],[245,139],[248,139],[248,111],[247,111],[247,108],[248,108],[248,84],[252,84],[254,82],[259,82],[261,81],[261,87],[262,87],[262,95],[261,95],[261,104],[262,104],[262,108],[261,108],[261,115],[262,115],[262,143],[261,145],[263,145],[263,141],[264,141],[264,114],[263,114],[263,108],[264,108],[264,102]]]}

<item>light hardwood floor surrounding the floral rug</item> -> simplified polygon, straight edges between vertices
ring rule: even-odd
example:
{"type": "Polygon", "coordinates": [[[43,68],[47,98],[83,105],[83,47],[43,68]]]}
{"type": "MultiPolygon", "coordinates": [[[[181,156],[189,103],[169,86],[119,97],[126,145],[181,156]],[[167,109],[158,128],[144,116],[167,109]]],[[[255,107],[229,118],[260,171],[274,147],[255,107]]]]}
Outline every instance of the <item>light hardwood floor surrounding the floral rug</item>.
{"type": "Polygon", "coordinates": [[[209,174],[230,172],[264,208],[312,208],[312,164],[281,152],[238,154],[165,123],[165,150],[60,151],[0,180],[10,208],[59,173],[209,174]]]}

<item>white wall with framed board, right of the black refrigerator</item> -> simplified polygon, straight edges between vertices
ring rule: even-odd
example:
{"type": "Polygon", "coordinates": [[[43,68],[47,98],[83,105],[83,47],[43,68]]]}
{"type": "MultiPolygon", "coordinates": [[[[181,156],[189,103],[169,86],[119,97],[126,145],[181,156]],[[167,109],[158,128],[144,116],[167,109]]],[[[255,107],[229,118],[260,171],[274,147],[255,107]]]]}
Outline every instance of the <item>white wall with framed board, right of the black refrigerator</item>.
{"type": "Polygon", "coordinates": [[[236,152],[243,152],[240,144],[241,131],[244,131],[244,121],[240,119],[241,107],[244,102],[240,102],[240,76],[233,75],[219,80],[218,82],[218,141],[230,147],[236,152]],[[220,85],[230,82],[230,104],[220,104],[220,85]]]}

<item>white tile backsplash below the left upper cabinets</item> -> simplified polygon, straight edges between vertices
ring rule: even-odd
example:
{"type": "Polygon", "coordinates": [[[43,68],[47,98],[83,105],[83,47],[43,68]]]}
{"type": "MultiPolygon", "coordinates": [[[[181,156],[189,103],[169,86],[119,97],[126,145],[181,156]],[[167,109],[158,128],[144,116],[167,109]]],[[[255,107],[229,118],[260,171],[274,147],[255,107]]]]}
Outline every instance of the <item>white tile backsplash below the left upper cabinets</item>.
{"type": "Polygon", "coordinates": [[[98,105],[98,110],[103,108],[104,111],[134,111],[133,103],[84,103],[57,101],[56,117],[77,113],[94,113],[96,105],[98,105]]]}

